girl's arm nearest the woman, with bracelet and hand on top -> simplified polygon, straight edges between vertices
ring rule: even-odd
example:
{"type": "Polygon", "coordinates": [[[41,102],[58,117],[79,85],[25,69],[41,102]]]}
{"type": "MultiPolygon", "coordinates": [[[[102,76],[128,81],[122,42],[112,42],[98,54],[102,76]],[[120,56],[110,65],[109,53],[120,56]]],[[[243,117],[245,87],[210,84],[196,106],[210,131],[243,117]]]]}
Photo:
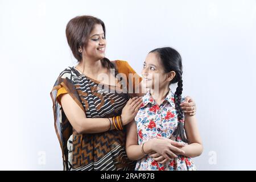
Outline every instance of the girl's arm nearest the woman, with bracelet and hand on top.
{"type": "MultiPolygon", "coordinates": [[[[139,160],[144,157],[142,152],[142,145],[138,145],[138,134],[136,123],[130,122],[127,127],[127,135],[126,135],[126,153],[130,160],[139,160]]],[[[184,154],[184,151],[181,148],[184,145],[175,141],[167,141],[162,139],[150,139],[144,143],[143,151],[146,154],[151,154],[152,152],[159,152],[159,154],[163,155],[167,159],[175,158],[175,151],[177,153],[184,154]]]]}

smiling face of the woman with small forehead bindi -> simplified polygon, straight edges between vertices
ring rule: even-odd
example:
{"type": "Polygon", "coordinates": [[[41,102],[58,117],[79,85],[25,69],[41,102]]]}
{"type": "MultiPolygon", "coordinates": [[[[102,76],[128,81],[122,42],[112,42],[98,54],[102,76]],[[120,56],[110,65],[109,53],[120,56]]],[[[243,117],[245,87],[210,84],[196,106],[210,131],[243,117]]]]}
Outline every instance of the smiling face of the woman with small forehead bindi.
{"type": "Polygon", "coordinates": [[[96,24],[90,32],[88,43],[85,46],[83,57],[101,60],[105,57],[106,40],[101,24],[96,24]]]}

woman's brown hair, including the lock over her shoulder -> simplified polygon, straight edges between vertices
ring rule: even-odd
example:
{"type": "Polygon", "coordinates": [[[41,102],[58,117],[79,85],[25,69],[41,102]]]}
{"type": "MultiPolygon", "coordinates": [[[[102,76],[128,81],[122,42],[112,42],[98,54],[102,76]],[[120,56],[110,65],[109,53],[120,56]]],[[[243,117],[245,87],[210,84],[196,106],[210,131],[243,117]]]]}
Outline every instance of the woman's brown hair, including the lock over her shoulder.
{"type": "MultiPolygon", "coordinates": [[[[101,19],[94,16],[76,16],[69,20],[66,27],[66,36],[68,45],[77,61],[82,60],[82,54],[79,52],[79,47],[84,48],[89,40],[89,35],[96,24],[101,24],[104,34],[106,36],[105,24],[101,19]]],[[[103,67],[108,69],[115,69],[114,64],[104,57],[101,59],[103,67]]],[[[115,74],[117,71],[115,70],[115,74]]]]}

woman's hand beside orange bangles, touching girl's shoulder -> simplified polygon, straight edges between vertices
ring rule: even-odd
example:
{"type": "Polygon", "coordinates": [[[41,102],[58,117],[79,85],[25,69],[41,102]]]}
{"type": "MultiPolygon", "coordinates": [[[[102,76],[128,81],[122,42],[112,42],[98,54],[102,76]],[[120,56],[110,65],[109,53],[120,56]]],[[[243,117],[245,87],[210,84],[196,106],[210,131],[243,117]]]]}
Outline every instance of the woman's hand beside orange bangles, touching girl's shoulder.
{"type": "Polygon", "coordinates": [[[141,107],[142,98],[141,97],[133,97],[127,101],[125,107],[123,107],[121,118],[123,121],[123,125],[127,125],[135,118],[138,113],[139,107],[141,107]]]}

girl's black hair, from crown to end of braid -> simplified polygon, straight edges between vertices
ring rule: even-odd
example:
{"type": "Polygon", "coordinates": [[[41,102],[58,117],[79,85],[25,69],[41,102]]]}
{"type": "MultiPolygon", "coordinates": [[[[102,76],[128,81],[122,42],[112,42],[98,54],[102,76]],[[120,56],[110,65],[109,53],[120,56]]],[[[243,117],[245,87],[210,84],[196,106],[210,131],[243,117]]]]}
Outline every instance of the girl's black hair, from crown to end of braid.
{"type": "Polygon", "coordinates": [[[168,73],[174,71],[176,73],[174,79],[170,82],[170,84],[174,84],[177,82],[177,89],[174,94],[175,100],[175,109],[177,110],[177,118],[179,120],[177,129],[175,130],[174,135],[176,137],[180,137],[183,142],[188,142],[185,137],[184,131],[184,112],[180,107],[181,94],[182,94],[182,61],[179,52],[171,47],[163,47],[156,48],[149,53],[156,53],[159,56],[159,59],[162,62],[164,67],[164,72],[168,73]]]}

